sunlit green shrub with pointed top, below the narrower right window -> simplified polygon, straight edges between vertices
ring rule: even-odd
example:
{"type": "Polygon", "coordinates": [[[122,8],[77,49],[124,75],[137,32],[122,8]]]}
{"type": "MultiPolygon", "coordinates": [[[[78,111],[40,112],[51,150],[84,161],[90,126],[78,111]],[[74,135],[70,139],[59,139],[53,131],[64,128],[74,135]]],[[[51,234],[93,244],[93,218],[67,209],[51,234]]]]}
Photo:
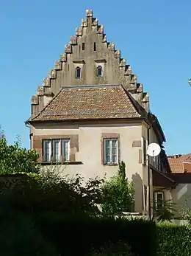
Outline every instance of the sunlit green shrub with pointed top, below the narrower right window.
{"type": "Polygon", "coordinates": [[[134,210],[134,186],[126,179],[126,165],[121,162],[118,174],[105,181],[102,188],[104,215],[119,215],[134,210]]]}

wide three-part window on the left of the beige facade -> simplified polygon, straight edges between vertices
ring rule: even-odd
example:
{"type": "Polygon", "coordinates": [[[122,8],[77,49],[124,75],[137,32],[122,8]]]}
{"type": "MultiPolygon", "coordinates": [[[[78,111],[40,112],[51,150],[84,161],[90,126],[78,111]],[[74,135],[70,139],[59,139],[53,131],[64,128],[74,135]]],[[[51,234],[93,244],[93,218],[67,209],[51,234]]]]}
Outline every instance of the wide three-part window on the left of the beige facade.
{"type": "Polygon", "coordinates": [[[43,140],[43,162],[69,161],[69,139],[43,140]]]}

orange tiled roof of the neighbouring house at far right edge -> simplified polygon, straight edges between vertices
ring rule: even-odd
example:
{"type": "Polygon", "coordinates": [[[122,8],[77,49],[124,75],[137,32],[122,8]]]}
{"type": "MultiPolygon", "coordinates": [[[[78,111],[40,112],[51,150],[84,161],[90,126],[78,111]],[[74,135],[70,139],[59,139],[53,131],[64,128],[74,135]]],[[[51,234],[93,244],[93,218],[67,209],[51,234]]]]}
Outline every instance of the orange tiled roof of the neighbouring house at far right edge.
{"type": "Polygon", "coordinates": [[[172,173],[191,173],[191,153],[167,157],[172,173]]]}

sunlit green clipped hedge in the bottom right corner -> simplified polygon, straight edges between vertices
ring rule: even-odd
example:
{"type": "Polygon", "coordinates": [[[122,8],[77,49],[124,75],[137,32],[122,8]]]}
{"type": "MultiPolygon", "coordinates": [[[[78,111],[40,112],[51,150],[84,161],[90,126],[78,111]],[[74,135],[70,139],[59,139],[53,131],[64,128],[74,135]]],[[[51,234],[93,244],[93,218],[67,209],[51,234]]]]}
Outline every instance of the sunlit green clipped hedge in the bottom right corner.
{"type": "Polygon", "coordinates": [[[157,225],[159,248],[157,255],[161,256],[190,256],[191,230],[189,226],[173,224],[157,225]]]}

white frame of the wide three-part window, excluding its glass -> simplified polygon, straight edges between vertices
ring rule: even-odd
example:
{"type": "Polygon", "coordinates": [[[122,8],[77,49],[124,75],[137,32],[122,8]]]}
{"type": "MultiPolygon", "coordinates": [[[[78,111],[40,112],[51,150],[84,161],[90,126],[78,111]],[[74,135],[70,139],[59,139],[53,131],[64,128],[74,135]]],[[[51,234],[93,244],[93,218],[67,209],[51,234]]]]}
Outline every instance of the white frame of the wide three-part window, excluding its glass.
{"type": "Polygon", "coordinates": [[[70,162],[70,139],[43,139],[43,162],[70,162]],[[59,153],[58,153],[58,158],[54,158],[54,151],[55,151],[55,147],[54,147],[54,142],[59,142],[59,153]],[[49,142],[49,157],[48,157],[48,161],[46,161],[46,147],[45,147],[45,142],[49,142]],[[68,143],[68,152],[67,152],[67,159],[65,159],[65,161],[63,161],[63,157],[62,157],[62,142],[67,142],[68,143]]]}

